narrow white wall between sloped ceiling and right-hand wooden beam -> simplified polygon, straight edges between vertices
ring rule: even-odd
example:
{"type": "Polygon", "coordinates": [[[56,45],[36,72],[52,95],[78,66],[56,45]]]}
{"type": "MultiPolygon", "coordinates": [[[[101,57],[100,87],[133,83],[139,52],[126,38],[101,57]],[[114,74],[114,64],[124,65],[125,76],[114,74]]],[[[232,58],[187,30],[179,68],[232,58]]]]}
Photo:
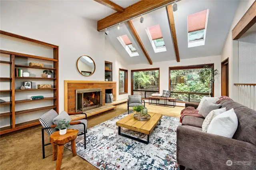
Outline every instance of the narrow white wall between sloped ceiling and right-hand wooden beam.
{"type": "MultiPolygon", "coordinates": [[[[221,54],[221,61],[224,61],[224,59],[228,58],[229,59],[229,96],[232,98],[232,88],[233,84],[237,83],[233,81],[232,78],[232,73],[237,72],[237,70],[233,70],[236,68],[232,67],[232,62],[233,62],[233,56],[232,56],[232,30],[236,26],[236,24],[239,22],[239,20],[244,16],[246,11],[250,8],[250,6],[253,4],[254,0],[241,0],[238,8],[236,10],[236,13],[233,18],[232,25],[230,27],[230,31],[228,33],[226,43],[222,49],[222,54],[221,54]]],[[[238,76],[238,75],[234,75],[238,76]]]]}

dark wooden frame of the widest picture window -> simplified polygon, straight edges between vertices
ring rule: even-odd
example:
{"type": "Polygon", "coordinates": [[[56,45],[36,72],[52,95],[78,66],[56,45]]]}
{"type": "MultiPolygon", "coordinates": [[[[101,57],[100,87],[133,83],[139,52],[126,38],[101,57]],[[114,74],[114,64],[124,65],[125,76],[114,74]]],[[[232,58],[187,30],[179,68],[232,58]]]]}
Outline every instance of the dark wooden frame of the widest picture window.
{"type": "MultiPolygon", "coordinates": [[[[212,68],[214,69],[214,63],[210,63],[210,64],[199,64],[199,65],[185,65],[185,66],[174,66],[174,67],[169,67],[169,91],[170,91],[170,87],[171,87],[171,77],[170,77],[170,71],[171,70],[185,70],[185,69],[203,69],[204,66],[212,66],[212,68]]],[[[173,91],[171,91],[171,94],[173,93],[173,91]]],[[[188,93],[196,93],[196,92],[188,92],[188,93]]],[[[186,93],[186,94],[188,94],[186,93]]],[[[198,93],[196,93],[198,94],[198,93]]],[[[212,97],[214,97],[214,82],[212,83],[212,97]]],[[[176,101],[179,103],[188,103],[188,101],[176,101]]],[[[190,102],[190,103],[198,103],[198,102],[190,102]]]]}

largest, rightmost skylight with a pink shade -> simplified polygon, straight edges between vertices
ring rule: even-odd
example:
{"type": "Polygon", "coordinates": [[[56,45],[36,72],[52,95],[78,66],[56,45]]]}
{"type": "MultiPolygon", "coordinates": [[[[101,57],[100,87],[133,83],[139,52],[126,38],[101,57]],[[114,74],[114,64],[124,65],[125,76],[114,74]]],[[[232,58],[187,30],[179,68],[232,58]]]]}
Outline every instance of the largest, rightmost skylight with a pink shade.
{"type": "Polygon", "coordinates": [[[188,16],[188,47],[204,45],[209,10],[188,16]]]}

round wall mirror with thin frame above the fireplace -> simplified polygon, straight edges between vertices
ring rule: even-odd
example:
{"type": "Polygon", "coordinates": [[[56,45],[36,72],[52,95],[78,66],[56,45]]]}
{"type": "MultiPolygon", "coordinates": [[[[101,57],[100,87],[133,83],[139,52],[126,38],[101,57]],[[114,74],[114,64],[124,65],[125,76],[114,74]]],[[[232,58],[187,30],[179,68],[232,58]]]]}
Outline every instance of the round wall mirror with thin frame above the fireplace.
{"type": "Polygon", "coordinates": [[[88,55],[79,57],[76,61],[76,67],[80,74],[84,76],[90,76],[95,71],[95,63],[88,55]]]}

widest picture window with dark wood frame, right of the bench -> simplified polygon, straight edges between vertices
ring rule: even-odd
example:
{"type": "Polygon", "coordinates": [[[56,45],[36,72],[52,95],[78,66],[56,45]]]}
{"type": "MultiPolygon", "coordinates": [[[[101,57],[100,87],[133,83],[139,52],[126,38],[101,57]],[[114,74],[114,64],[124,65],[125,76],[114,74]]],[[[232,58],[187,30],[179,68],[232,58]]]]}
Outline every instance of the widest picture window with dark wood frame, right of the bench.
{"type": "Polygon", "coordinates": [[[176,101],[200,102],[204,96],[213,96],[213,83],[204,76],[202,69],[212,69],[213,64],[169,67],[169,88],[176,101]],[[205,67],[209,68],[205,68],[205,67]],[[201,77],[200,77],[201,76],[201,77]]]}

